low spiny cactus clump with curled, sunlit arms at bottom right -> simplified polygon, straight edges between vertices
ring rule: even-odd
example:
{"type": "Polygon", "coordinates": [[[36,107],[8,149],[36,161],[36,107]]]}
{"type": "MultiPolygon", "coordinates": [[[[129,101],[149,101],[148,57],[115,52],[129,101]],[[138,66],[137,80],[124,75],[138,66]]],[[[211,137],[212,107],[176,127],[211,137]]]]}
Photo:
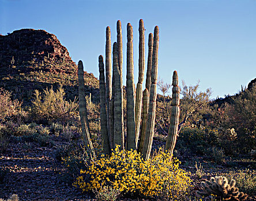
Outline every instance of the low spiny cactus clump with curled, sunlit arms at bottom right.
{"type": "Polygon", "coordinates": [[[197,191],[198,196],[215,195],[220,199],[225,200],[246,200],[248,195],[243,192],[239,192],[239,189],[235,187],[236,181],[232,179],[228,183],[227,177],[216,176],[211,177],[210,180],[201,182],[201,191],[197,191]]]}

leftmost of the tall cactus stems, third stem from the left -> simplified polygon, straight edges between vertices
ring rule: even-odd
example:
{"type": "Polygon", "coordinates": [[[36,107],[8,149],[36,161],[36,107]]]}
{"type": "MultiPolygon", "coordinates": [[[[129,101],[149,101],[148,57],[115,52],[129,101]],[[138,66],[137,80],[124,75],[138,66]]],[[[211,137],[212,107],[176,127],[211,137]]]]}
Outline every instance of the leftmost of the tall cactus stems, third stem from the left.
{"type": "MultiPolygon", "coordinates": [[[[110,135],[110,100],[112,93],[112,80],[111,80],[111,31],[110,27],[106,28],[106,105],[107,105],[107,123],[108,123],[108,134],[110,135]]],[[[110,135],[110,141],[111,135],[110,135]]]]}

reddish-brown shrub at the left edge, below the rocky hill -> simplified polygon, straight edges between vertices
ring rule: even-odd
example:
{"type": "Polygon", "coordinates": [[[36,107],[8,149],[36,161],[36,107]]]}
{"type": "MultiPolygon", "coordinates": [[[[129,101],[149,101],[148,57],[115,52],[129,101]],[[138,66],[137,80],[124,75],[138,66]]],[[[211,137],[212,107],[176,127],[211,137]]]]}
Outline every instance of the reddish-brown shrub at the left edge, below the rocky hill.
{"type": "Polygon", "coordinates": [[[17,99],[11,99],[12,93],[3,88],[0,88],[0,120],[6,119],[21,119],[25,117],[25,112],[22,110],[22,102],[17,99]]]}

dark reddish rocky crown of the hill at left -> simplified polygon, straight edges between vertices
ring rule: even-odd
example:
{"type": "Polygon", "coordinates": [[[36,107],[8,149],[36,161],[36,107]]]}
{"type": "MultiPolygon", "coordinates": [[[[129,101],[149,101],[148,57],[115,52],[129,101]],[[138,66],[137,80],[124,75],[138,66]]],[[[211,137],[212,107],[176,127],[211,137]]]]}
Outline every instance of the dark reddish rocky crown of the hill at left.
{"type": "Polygon", "coordinates": [[[65,61],[75,65],[67,49],[54,34],[35,29],[21,29],[7,36],[0,35],[0,68],[10,64],[12,59],[14,65],[32,60],[65,61]]]}

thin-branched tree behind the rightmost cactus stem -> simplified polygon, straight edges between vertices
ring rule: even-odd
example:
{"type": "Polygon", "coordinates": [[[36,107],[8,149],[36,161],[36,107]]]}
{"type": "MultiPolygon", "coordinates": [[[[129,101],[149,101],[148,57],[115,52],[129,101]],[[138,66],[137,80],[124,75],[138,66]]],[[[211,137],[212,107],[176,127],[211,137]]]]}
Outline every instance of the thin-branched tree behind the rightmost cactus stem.
{"type": "MultiPolygon", "coordinates": [[[[163,79],[159,79],[157,86],[163,93],[163,97],[159,96],[157,99],[157,124],[160,121],[161,129],[165,130],[166,127],[170,125],[170,110],[171,110],[171,99],[167,96],[171,84],[164,83],[163,79]],[[165,128],[165,129],[164,129],[165,128]]],[[[195,124],[199,127],[201,122],[207,121],[209,119],[210,108],[209,101],[210,95],[212,94],[212,89],[207,88],[205,91],[199,91],[199,80],[194,86],[187,86],[184,81],[182,81],[182,88],[180,91],[182,98],[180,99],[180,123],[179,130],[185,123],[195,124]]]]}

